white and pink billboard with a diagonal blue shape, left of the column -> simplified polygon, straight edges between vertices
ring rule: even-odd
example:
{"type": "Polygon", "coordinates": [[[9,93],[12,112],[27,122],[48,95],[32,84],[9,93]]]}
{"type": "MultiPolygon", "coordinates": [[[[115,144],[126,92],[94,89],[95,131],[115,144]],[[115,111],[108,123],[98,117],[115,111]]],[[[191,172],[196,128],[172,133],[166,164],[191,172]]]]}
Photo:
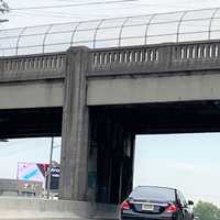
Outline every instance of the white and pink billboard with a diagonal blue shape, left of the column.
{"type": "Polygon", "coordinates": [[[16,179],[45,183],[48,164],[18,163],[16,179]]]}

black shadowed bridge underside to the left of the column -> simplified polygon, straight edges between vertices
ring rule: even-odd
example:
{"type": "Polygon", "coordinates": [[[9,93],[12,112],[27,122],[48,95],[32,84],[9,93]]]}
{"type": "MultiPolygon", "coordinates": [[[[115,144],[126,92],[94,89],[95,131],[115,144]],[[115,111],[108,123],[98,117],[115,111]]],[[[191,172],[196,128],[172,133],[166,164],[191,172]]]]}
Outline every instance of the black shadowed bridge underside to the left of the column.
{"type": "Polygon", "coordinates": [[[0,110],[0,139],[58,136],[62,108],[0,110]]]}

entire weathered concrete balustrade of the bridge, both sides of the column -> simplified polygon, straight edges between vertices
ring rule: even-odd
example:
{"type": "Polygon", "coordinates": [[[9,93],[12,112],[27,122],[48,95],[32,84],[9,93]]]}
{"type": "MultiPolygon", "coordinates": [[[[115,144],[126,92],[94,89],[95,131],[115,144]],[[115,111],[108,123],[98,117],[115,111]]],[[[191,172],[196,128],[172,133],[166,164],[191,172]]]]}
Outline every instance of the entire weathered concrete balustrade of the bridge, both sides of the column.
{"type": "MultiPolygon", "coordinates": [[[[88,76],[220,68],[220,41],[91,50],[88,76]]],[[[64,78],[66,53],[0,58],[0,79],[64,78]]]]}

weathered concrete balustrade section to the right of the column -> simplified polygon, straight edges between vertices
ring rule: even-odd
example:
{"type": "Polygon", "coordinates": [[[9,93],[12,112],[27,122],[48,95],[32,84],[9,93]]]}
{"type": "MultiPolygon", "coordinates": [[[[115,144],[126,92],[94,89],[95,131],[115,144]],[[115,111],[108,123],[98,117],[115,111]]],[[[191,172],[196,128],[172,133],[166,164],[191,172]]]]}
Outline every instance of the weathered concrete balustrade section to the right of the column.
{"type": "Polygon", "coordinates": [[[220,68],[220,42],[95,50],[89,76],[220,68]]]}

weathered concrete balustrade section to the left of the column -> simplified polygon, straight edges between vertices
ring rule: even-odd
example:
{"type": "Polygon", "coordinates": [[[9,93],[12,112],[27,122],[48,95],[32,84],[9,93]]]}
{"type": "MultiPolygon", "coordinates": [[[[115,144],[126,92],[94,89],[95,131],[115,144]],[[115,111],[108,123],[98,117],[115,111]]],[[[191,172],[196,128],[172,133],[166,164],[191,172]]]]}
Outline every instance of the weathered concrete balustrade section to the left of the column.
{"type": "Polygon", "coordinates": [[[11,56],[0,59],[1,80],[56,78],[64,75],[66,53],[11,56]]]}

